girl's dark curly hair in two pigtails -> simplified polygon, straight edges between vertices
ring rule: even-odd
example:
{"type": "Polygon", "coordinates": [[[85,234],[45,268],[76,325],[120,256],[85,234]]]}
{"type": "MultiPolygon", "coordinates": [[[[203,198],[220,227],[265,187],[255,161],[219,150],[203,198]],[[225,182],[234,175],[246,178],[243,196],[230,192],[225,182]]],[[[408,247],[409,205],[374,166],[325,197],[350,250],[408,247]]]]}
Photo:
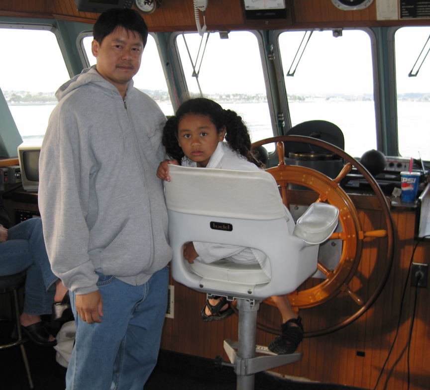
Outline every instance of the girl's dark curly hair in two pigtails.
{"type": "Polygon", "coordinates": [[[189,99],[182,103],[175,116],[171,116],[163,128],[162,143],[166,148],[166,153],[181,164],[184,152],[178,144],[178,124],[186,114],[208,116],[219,132],[225,126],[225,140],[232,150],[235,150],[246,160],[254,163],[257,167],[264,168],[264,164],[258,161],[251,151],[251,139],[248,129],[242,118],[235,111],[224,110],[214,100],[207,98],[189,99]]]}

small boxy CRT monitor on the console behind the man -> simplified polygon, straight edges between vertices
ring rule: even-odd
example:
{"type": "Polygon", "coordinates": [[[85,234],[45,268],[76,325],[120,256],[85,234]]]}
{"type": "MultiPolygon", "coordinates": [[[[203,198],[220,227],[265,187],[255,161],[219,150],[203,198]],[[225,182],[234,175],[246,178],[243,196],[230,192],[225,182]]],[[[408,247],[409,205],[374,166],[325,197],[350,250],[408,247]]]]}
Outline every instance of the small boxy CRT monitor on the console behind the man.
{"type": "Polygon", "coordinates": [[[25,191],[39,190],[39,155],[40,145],[18,146],[18,159],[21,168],[22,187],[25,191]]]}

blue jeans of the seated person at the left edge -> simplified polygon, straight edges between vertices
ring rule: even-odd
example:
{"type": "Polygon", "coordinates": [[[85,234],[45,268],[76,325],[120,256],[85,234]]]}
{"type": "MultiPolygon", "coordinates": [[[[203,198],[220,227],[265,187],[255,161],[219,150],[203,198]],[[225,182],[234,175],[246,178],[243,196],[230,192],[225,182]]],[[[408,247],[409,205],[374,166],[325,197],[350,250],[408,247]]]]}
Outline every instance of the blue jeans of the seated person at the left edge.
{"type": "Polygon", "coordinates": [[[51,314],[58,279],[51,271],[42,220],[30,218],[11,227],[7,241],[0,244],[0,275],[13,275],[27,270],[24,313],[51,314]]]}

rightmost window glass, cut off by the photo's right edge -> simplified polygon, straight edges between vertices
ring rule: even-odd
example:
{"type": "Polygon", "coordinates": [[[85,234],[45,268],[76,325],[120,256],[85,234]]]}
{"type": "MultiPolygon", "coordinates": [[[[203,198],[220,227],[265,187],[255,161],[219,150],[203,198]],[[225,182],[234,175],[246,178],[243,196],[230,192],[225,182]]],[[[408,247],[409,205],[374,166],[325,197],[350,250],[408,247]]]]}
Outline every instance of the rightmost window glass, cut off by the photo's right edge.
{"type": "Polygon", "coordinates": [[[423,160],[430,160],[429,37],[430,27],[402,27],[394,35],[399,152],[423,160]]]}

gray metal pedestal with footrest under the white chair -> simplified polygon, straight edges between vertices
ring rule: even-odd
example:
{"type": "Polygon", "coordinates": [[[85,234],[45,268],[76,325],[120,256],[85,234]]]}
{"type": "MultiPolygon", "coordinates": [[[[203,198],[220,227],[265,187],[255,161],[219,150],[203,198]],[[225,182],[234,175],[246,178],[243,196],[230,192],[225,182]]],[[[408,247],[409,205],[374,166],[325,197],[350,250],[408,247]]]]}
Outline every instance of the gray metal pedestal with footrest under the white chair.
{"type": "MultiPolygon", "coordinates": [[[[224,340],[224,350],[237,375],[236,390],[254,389],[255,373],[297,362],[303,356],[303,352],[276,355],[270,352],[267,347],[256,345],[259,307],[259,301],[237,299],[239,341],[224,340]],[[257,356],[257,353],[267,356],[257,356]]],[[[230,366],[230,364],[228,365],[230,366]]]]}

